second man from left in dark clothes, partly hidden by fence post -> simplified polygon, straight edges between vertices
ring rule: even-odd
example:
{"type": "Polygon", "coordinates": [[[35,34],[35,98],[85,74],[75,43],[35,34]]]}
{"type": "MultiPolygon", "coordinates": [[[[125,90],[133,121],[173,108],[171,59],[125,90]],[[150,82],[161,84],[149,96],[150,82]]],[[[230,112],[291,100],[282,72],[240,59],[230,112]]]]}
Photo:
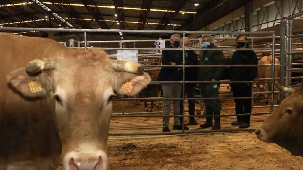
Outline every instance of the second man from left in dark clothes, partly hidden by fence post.
{"type": "MultiPolygon", "coordinates": [[[[188,37],[184,38],[184,46],[185,48],[189,48],[189,39],[188,37]]],[[[183,45],[183,38],[181,38],[181,47],[183,45]]],[[[185,51],[185,65],[198,65],[198,57],[194,51],[185,51]]],[[[197,67],[185,67],[185,81],[197,81],[197,67]]],[[[195,97],[195,84],[193,83],[186,83],[184,87],[185,94],[187,94],[187,98],[194,98],[195,97]]],[[[182,93],[181,93],[182,98],[182,93]]],[[[180,114],[183,113],[183,101],[180,102],[180,114]]],[[[188,100],[188,112],[190,115],[195,114],[195,101],[188,100]]],[[[182,117],[180,118],[182,122],[182,117]]],[[[197,125],[195,121],[195,117],[189,117],[189,124],[197,125]]]]}

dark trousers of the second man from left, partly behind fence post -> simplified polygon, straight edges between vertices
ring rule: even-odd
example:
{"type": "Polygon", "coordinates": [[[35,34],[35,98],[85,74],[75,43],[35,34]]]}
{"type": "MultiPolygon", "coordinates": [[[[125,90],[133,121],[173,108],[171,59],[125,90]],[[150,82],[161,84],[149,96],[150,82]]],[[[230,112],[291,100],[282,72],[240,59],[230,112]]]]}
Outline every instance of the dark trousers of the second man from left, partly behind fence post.
{"type": "MultiPolygon", "coordinates": [[[[184,87],[185,94],[187,94],[187,98],[194,98],[195,97],[195,85],[194,84],[185,84],[184,87]]],[[[181,93],[181,98],[182,98],[181,93]]],[[[183,114],[183,101],[180,102],[180,114],[183,114]]],[[[188,100],[188,112],[190,115],[195,114],[195,101],[194,100],[188,100]]]]}

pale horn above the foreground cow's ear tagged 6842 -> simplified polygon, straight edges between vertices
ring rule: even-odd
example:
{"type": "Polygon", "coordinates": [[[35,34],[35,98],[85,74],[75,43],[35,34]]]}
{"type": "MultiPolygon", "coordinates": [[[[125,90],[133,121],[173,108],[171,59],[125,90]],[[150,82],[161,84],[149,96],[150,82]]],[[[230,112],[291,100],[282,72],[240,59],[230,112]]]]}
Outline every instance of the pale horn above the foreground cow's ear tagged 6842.
{"type": "Polygon", "coordinates": [[[130,73],[142,73],[144,65],[132,61],[112,60],[112,66],[115,71],[125,71],[130,73]]]}

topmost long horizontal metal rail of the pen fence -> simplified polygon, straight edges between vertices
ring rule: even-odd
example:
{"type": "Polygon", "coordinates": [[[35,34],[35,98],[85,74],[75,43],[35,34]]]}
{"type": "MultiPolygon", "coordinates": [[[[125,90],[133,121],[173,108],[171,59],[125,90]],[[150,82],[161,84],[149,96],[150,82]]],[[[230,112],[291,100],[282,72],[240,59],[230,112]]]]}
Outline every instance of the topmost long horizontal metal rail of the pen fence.
{"type": "Polygon", "coordinates": [[[104,33],[149,33],[149,34],[273,34],[275,31],[176,31],[176,30],[119,30],[119,29],[79,29],[79,28],[12,28],[12,27],[2,27],[0,31],[46,31],[46,32],[104,32],[104,33]]]}

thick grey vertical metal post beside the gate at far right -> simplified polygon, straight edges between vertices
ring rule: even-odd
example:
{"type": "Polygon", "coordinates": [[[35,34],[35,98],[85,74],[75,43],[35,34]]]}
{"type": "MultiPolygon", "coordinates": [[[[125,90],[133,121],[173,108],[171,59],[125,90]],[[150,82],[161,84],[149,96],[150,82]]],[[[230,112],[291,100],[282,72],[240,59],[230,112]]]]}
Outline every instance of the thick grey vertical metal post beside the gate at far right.
{"type": "MultiPolygon", "coordinates": [[[[285,18],[280,21],[280,85],[285,86],[285,18]]],[[[285,99],[285,92],[280,90],[280,102],[285,99]]]]}

